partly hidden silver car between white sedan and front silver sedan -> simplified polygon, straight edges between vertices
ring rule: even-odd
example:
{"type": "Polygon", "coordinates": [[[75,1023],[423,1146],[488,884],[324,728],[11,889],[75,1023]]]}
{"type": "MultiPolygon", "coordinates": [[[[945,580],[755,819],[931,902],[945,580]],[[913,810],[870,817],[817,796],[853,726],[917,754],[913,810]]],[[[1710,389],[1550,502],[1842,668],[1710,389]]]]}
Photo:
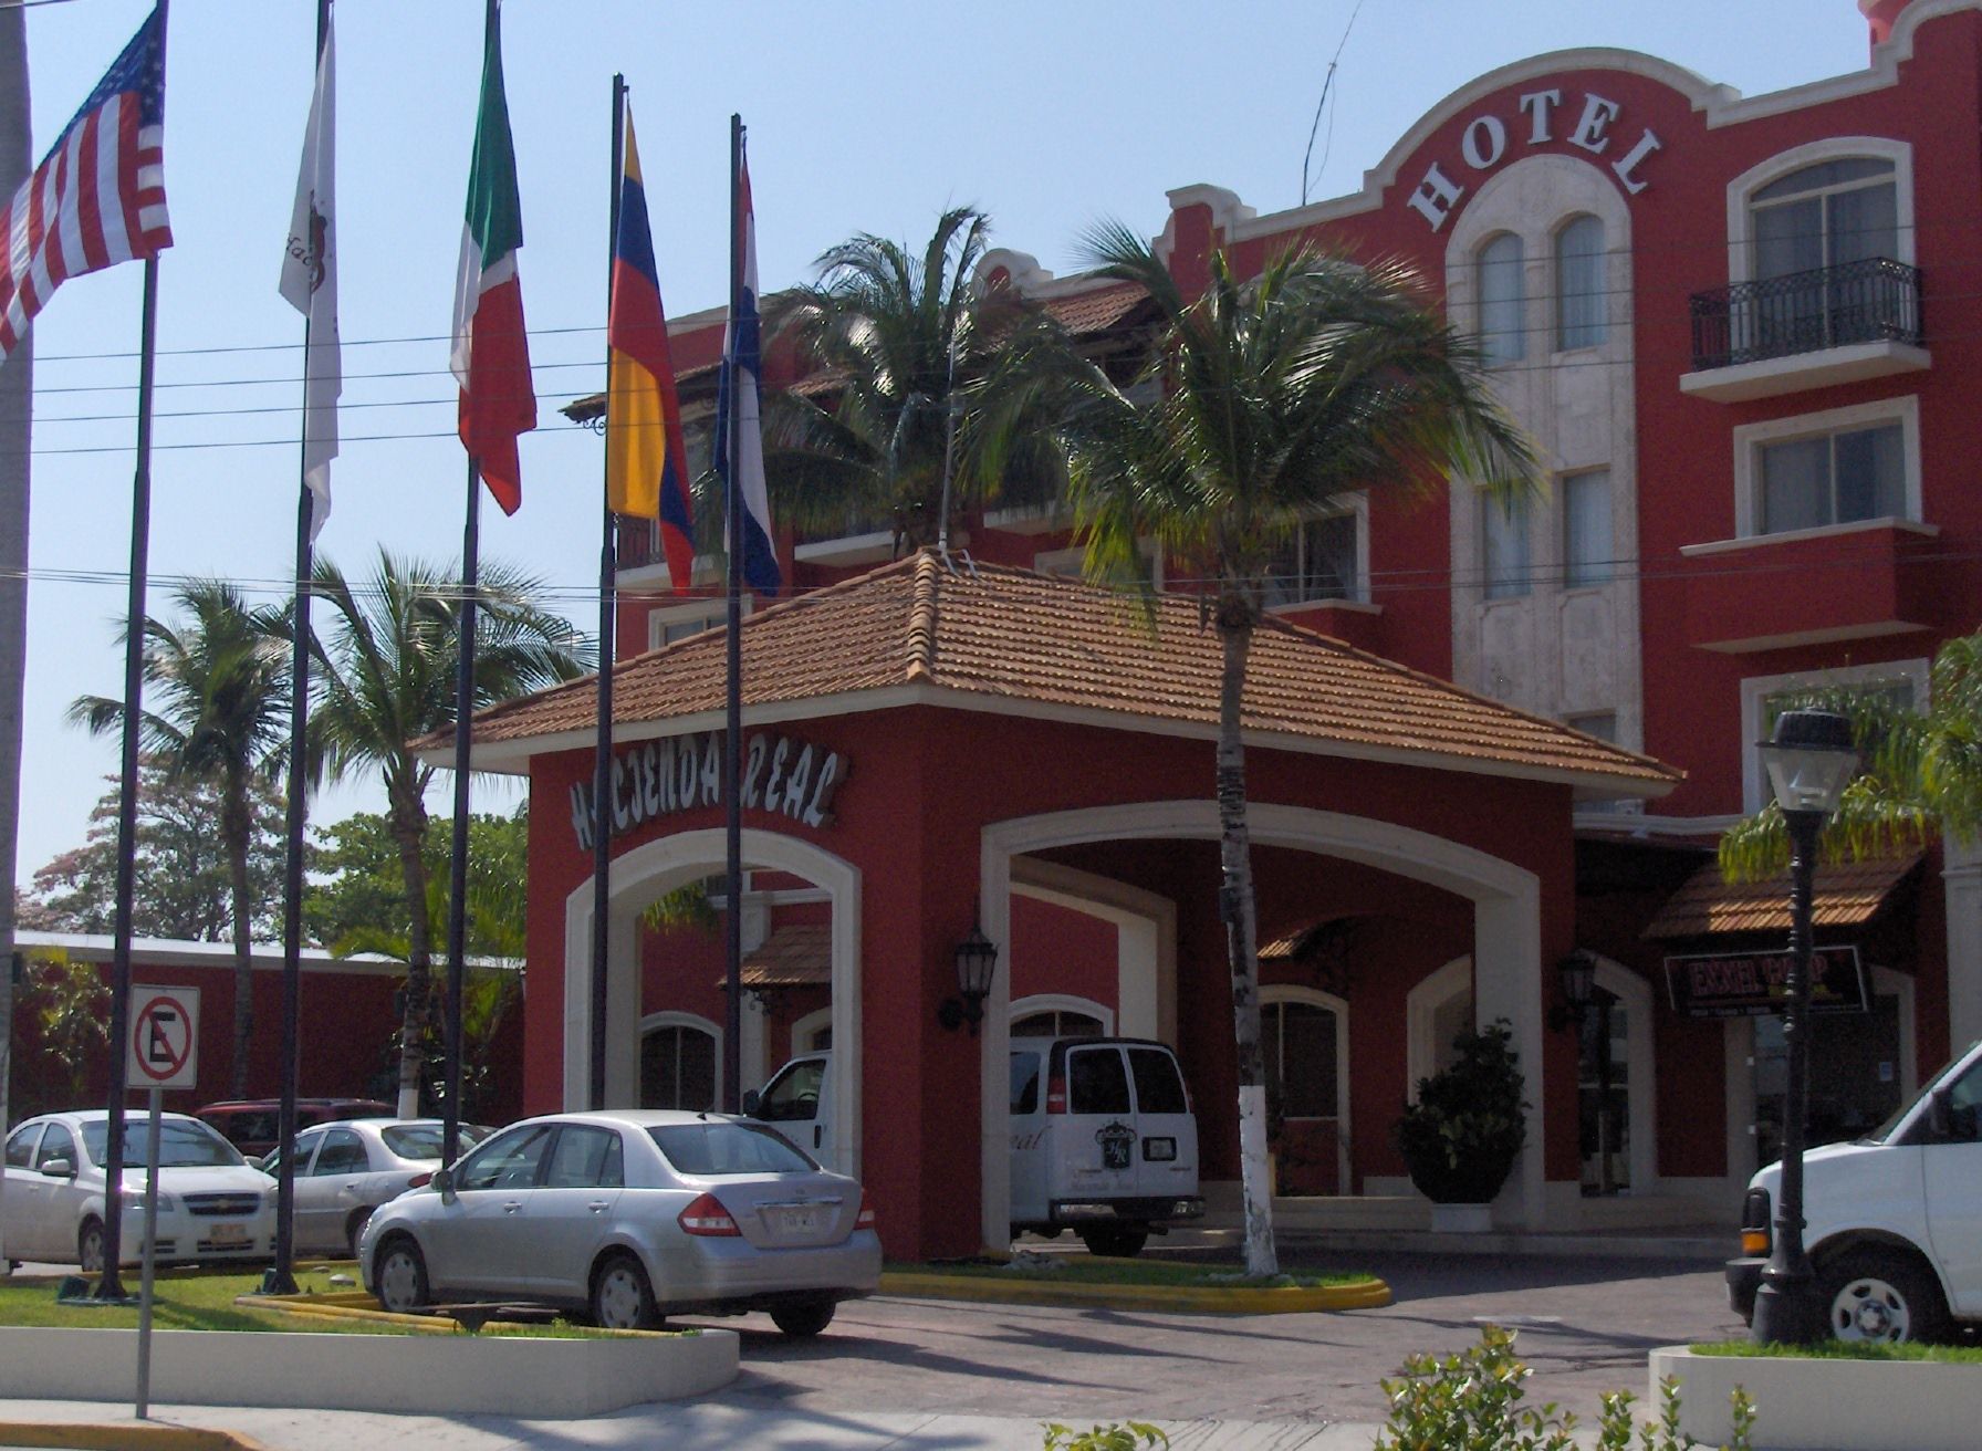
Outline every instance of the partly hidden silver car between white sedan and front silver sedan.
{"type": "MultiPolygon", "coordinates": [[[[442,1130],[438,1118],[351,1118],[297,1134],[295,1251],[357,1259],[373,1209],[434,1177],[442,1130]]],[[[462,1152],[488,1132],[462,1124],[462,1152]]],[[[279,1156],[262,1160],[262,1170],[275,1175],[279,1156]]]]}

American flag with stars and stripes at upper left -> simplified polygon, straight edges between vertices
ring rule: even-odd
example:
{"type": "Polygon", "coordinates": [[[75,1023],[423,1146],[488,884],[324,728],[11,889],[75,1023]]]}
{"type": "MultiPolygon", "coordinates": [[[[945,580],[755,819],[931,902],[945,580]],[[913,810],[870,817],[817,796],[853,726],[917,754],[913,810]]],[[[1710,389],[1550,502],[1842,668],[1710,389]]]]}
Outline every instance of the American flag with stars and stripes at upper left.
{"type": "Polygon", "coordinates": [[[67,278],[172,246],[165,20],[153,12],[0,212],[0,363],[67,278]]]}

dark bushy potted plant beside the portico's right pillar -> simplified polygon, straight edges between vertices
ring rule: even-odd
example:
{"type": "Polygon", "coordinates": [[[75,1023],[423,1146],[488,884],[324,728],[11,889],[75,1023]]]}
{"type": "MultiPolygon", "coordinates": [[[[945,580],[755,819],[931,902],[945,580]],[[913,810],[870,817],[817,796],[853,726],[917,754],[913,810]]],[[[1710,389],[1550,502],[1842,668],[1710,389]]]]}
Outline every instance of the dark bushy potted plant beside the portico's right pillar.
{"type": "Polygon", "coordinates": [[[1453,1039],[1451,1066],[1417,1080],[1393,1138],[1411,1183],[1433,1203],[1435,1229],[1486,1229],[1486,1205],[1500,1193],[1528,1138],[1520,1055],[1506,1019],[1453,1039]],[[1469,1213],[1441,1213],[1465,1205],[1469,1213]]]}

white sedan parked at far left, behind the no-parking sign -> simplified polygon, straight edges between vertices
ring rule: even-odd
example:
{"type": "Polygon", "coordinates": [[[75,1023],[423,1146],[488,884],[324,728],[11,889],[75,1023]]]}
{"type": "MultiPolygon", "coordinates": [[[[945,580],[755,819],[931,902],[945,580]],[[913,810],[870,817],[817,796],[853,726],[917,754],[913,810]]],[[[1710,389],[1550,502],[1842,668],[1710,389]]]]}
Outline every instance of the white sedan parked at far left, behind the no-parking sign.
{"type": "MultiPolygon", "coordinates": [[[[119,1263],[141,1259],[151,1116],[125,1114],[119,1263]]],[[[6,1253],[16,1261],[103,1269],[103,1158],[109,1112],[42,1114],[6,1140],[6,1253]]],[[[159,1120],[161,1263],[266,1261],[275,1241],[275,1181],[198,1118],[159,1120]]]]}

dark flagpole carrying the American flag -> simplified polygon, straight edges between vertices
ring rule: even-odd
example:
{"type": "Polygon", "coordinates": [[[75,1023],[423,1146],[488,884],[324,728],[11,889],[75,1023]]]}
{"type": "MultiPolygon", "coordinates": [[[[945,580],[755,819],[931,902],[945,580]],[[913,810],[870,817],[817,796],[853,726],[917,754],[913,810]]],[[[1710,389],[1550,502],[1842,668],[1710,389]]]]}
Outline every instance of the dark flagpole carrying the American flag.
{"type": "MultiPolygon", "coordinates": [[[[165,67],[166,0],[159,0],[159,67],[165,67]]],[[[131,593],[125,611],[123,769],[117,791],[117,916],[111,940],[109,1124],[103,1154],[103,1279],[99,1300],[123,1300],[117,1261],[123,1259],[123,1152],[127,1090],[125,1055],[131,1039],[131,912],[137,896],[137,755],[145,708],[145,585],[151,559],[151,396],[159,341],[159,258],[145,258],[145,301],[139,313],[137,468],[131,478],[131,593]]]]}

